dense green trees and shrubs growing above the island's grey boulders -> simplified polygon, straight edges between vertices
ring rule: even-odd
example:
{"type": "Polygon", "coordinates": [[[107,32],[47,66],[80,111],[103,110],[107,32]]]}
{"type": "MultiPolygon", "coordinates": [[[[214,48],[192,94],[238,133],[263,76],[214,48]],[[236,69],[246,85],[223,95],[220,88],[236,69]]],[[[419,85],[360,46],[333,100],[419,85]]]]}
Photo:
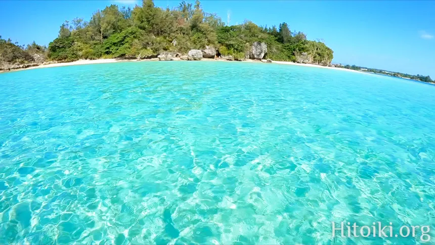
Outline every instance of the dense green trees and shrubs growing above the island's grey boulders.
{"type": "MultiPolygon", "coordinates": [[[[256,41],[267,44],[265,58],[272,60],[297,61],[297,55],[304,53],[312,57],[313,63],[327,65],[333,58],[325,44],[307,40],[305,33],[291,31],[285,22],[269,28],[248,20],[226,25],[216,14],[205,13],[199,1],[183,1],[176,8],[161,9],[152,0],[144,0],[142,6],[133,9],[111,5],[96,11],[89,21],[65,21],[45,54],[52,61],[144,59],[162,51],[186,54],[212,46],[223,55],[243,58],[256,41]]],[[[31,62],[31,57],[18,56],[8,62],[31,62]]]]}

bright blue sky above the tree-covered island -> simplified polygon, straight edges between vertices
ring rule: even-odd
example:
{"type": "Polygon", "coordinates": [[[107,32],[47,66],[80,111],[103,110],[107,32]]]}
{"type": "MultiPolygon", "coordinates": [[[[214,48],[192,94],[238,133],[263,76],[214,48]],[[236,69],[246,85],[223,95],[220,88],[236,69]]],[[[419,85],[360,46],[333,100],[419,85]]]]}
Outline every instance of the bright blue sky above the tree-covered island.
{"type": "MultiPolygon", "coordinates": [[[[181,1],[155,1],[174,7],[181,1]]],[[[189,2],[189,1],[188,1],[189,2]]],[[[140,1],[0,1],[0,35],[20,44],[48,45],[59,26],[75,17],[89,20],[110,4],[140,1]]],[[[435,78],[435,1],[211,1],[205,12],[230,24],[287,22],[309,39],[321,38],[334,51],[333,63],[430,75],[435,78]]]]}

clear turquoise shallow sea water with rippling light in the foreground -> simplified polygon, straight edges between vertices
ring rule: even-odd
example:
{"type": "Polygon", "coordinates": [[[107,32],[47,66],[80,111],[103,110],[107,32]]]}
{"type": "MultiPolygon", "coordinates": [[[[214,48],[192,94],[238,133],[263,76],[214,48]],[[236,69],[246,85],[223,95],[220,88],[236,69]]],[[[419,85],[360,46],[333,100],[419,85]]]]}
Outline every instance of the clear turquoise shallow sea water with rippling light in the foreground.
{"type": "Polygon", "coordinates": [[[435,86],[176,61],[0,84],[0,243],[410,244],[330,222],[435,223],[435,86]]]}

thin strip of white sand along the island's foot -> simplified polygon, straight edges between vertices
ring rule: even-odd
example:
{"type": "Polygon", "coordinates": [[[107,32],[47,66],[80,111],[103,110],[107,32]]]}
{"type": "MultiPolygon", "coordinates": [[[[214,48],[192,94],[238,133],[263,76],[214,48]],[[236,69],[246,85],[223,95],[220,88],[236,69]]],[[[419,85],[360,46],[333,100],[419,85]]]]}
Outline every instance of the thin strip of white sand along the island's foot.
{"type": "MultiPolygon", "coordinates": [[[[180,58],[176,58],[174,60],[182,60],[180,58]]],[[[1,70],[0,73],[4,72],[13,72],[13,71],[20,71],[20,70],[30,70],[30,69],[38,69],[38,68],[49,68],[49,67],[61,67],[61,66],[70,66],[70,65],[90,65],[90,64],[105,64],[105,63],[116,63],[116,62],[142,62],[142,61],[159,61],[158,58],[152,58],[152,59],[97,59],[97,60],[77,60],[72,62],[59,62],[59,63],[51,63],[51,64],[42,64],[27,68],[20,68],[20,69],[13,69],[13,70],[1,70]]],[[[184,60],[182,60],[184,61],[184,60]]],[[[187,61],[187,60],[186,60],[187,61]]],[[[232,60],[225,60],[225,59],[207,59],[204,58],[201,61],[224,61],[224,62],[258,62],[258,63],[267,63],[260,60],[251,60],[246,59],[243,61],[232,61],[232,60]]],[[[333,69],[333,70],[342,70],[342,71],[351,71],[351,72],[359,72],[364,74],[370,74],[363,71],[357,71],[357,70],[351,70],[351,69],[345,69],[345,68],[339,68],[339,67],[330,67],[330,66],[322,66],[322,65],[315,65],[315,64],[303,64],[303,63],[295,63],[291,61],[272,61],[272,64],[282,64],[282,65],[297,65],[297,66],[307,66],[307,67],[317,67],[317,68],[324,68],[324,69],[333,69]]]]}

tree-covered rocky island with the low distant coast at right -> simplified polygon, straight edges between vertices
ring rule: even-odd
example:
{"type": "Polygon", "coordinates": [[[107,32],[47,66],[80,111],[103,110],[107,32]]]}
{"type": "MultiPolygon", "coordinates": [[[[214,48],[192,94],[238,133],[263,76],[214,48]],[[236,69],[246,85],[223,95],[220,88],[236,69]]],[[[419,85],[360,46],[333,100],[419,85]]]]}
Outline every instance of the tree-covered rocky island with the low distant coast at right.
{"type": "MultiPolygon", "coordinates": [[[[248,20],[229,25],[218,15],[205,13],[199,1],[183,1],[172,9],[156,7],[153,0],[143,0],[142,6],[133,9],[110,5],[93,13],[89,21],[74,18],[62,23],[58,37],[48,47],[35,42],[21,46],[0,36],[0,71],[77,60],[157,58],[253,59],[357,67],[331,65],[333,51],[329,47],[319,40],[308,40],[301,31],[291,31],[285,22],[278,27],[258,26],[248,20]]],[[[429,76],[394,74],[433,82],[429,76]]]]}

